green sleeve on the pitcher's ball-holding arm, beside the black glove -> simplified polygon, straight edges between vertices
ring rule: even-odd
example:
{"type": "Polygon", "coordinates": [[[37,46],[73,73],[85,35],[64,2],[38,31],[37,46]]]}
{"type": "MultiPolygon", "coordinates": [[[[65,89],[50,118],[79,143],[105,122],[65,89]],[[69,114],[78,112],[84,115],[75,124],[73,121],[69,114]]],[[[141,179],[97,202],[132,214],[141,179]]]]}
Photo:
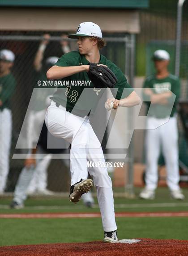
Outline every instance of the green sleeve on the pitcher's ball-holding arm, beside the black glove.
{"type": "Polygon", "coordinates": [[[128,97],[128,95],[131,94],[134,91],[134,89],[131,87],[131,85],[128,84],[128,81],[124,76],[124,73],[120,70],[120,68],[117,69],[117,71],[115,72],[115,75],[118,79],[115,85],[115,88],[118,88],[118,91],[115,95],[115,99],[124,99],[128,97]]]}

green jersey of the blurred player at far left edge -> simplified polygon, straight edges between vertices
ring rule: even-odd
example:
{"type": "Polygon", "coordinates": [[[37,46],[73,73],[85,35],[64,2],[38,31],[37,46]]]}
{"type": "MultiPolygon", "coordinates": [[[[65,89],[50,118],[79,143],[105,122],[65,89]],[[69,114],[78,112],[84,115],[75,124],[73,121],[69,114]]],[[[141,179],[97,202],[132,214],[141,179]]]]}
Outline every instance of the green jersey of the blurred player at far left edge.
{"type": "Polygon", "coordinates": [[[0,77],[0,100],[3,105],[0,109],[10,108],[10,99],[16,86],[16,81],[11,73],[0,77]]]}

